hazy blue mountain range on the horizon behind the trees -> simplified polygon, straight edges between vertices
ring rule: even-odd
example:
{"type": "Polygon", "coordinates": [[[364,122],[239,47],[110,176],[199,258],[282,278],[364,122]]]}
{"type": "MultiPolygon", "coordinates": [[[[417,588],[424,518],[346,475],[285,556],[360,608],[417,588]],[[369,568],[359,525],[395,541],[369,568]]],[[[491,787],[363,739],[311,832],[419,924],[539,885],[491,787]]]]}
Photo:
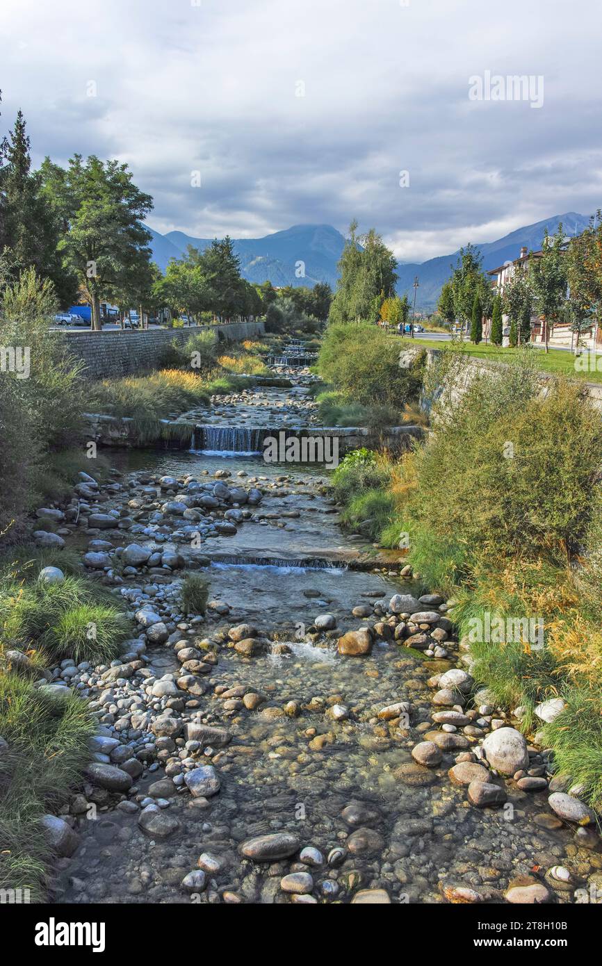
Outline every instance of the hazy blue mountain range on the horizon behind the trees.
{"type": "MultiPolygon", "coordinates": [[[[536,250],[541,247],[544,230],[553,235],[562,222],[566,235],[579,234],[588,226],[588,218],[576,212],[555,214],[535,224],[517,228],[502,239],[475,245],[483,256],[483,270],[496,269],[509,259],[518,258],[523,245],[536,250]]],[[[187,245],[201,251],[211,244],[211,239],[197,239],[184,232],[167,232],[161,235],[148,225],[152,235],[153,259],[164,271],[170,258],[182,258],[187,245]]],[[[328,282],[332,289],[338,278],[337,263],[345,245],[345,239],[331,225],[293,225],[281,232],[274,232],[261,239],[234,239],[234,248],[241,259],[241,270],[250,282],[272,285],[307,285],[328,282]],[[304,274],[299,274],[302,263],[304,274]]],[[[459,252],[440,255],[426,262],[400,262],[397,265],[399,281],[397,292],[414,297],[414,279],[419,285],[416,307],[429,310],[435,307],[441,287],[455,266],[459,252]]]]}

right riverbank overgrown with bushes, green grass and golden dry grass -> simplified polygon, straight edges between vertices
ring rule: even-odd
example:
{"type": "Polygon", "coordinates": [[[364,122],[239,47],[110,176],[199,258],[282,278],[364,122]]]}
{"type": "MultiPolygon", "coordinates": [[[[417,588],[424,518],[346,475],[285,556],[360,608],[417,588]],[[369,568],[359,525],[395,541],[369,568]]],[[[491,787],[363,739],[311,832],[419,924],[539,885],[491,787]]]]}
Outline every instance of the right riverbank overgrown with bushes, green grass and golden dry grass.
{"type": "Polygon", "coordinates": [[[600,809],[602,417],[575,384],[541,397],[524,358],[460,396],[464,374],[456,354],[428,374],[427,395],[446,388],[426,443],[400,461],[352,454],[336,470],[343,523],[407,548],[423,584],[455,597],[476,680],[521,708],[525,730],[543,731],[559,771],[600,809]],[[498,618],[514,635],[484,632],[498,618]],[[535,706],[556,696],[564,710],[544,727],[535,706]]]}

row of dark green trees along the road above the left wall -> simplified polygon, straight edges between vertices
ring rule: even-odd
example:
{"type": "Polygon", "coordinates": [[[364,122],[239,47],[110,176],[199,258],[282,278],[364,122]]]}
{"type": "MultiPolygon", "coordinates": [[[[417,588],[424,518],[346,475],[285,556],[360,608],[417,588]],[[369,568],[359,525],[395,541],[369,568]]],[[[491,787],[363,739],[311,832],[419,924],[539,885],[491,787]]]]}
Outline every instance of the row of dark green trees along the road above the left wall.
{"type": "MultiPolygon", "coordinates": [[[[74,155],[66,167],[45,157],[32,169],[21,111],[0,142],[0,255],[6,277],[33,269],[52,283],[57,301],[91,305],[92,328],[102,325],[100,305],[123,315],[135,306],[149,315],[166,308],[198,321],[265,316],[276,299],[324,321],[330,286],[274,289],[251,284],[241,272],[233,241],[215,239],[205,251],[188,246],[165,274],[152,261],[152,236],[143,220],[153,198],[132,181],[127,164],[74,155]]],[[[273,313],[272,313],[273,314],[273,313]]]]}

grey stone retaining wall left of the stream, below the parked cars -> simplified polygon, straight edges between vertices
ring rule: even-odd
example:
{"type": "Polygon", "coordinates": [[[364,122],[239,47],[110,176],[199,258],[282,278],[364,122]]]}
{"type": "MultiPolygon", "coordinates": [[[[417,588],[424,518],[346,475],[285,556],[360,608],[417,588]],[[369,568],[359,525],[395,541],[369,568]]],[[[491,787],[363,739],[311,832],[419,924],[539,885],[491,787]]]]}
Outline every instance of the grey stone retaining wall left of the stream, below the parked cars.
{"type": "Polygon", "coordinates": [[[160,364],[165,348],[174,340],[185,343],[190,335],[210,329],[221,342],[256,339],[264,334],[263,322],[231,322],[227,325],[186,328],[147,328],[140,330],[64,332],[65,345],[86,366],[88,379],[135,376],[150,372],[160,364]]]}

